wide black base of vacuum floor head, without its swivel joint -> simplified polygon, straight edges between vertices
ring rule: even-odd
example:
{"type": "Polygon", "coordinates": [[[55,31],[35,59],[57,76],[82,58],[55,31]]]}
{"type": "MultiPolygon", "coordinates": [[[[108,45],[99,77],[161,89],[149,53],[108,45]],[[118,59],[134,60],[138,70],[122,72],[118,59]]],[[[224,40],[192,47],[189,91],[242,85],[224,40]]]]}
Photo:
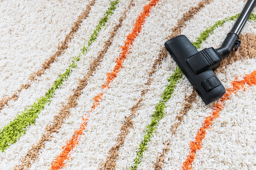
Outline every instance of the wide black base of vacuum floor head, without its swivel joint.
{"type": "Polygon", "coordinates": [[[205,104],[210,104],[225,93],[225,87],[221,84],[213,70],[208,69],[202,73],[195,74],[186,60],[198,53],[193,44],[185,35],[179,35],[165,42],[164,46],[171,53],[173,59],[189,79],[205,104]]]}

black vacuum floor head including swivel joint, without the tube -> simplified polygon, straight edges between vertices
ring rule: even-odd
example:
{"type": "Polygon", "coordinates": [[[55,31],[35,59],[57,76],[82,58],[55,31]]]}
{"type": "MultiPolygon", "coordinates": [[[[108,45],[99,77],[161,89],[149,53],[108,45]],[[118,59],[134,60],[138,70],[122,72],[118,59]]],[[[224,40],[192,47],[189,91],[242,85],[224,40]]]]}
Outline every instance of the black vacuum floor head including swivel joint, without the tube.
{"type": "MultiPolygon", "coordinates": [[[[198,52],[185,35],[179,35],[168,40],[164,46],[171,53],[173,59],[189,79],[200,97],[202,97],[205,104],[213,102],[225,93],[224,86],[213,73],[213,70],[206,67],[207,63],[215,62],[205,52],[216,53],[213,48],[198,52]],[[195,60],[198,57],[200,60],[195,60]]],[[[217,53],[216,56],[218,60],[216,63],[218,64],[221,59],[217,53]]],[[[212,64],[211,66],[213,65],[216,67],[216,64],[212,64]]]]}

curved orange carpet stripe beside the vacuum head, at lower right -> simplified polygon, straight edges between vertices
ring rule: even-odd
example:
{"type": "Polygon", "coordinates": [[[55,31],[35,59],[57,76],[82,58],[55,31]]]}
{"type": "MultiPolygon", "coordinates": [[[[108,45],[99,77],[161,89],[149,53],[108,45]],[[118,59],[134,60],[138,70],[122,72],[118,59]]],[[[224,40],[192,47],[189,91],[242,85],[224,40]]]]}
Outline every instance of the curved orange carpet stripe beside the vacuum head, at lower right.
{"type": "Polygon", "coordinates": [[[248,86],[256,85],[256,71],[253,71],[249,75],[245,75],[244,79],[242,80],[238,80],[236,77],[235,81],[232,81],[231,84],[232,84],[232,87],[226,90],[226,93],[220,99],[220,103],[217,102],[213,107],[213,112],[211,113],[211,115],[205,118],[204,123],[202,124],[202,127],[199,128],[195,136],[195,141],[190,142],[189,155],[186,157],[186,160],[183,162],[183,165],[182,165],[183,170],[191,170],[193,168],[192,163],[195,160],[195,156],[196,156],[195,153],[197,150],[200,150],[203,147],[202,140],[204,139],[207,133],[206,130],[209,129],[209,127],[212,125],[213,120],[219,117],[219,113],[225,105],[224,102],[230,98],[230,95],[233,93],[236,93],[240,89],[245,91],[246,84],[248,86]]]}

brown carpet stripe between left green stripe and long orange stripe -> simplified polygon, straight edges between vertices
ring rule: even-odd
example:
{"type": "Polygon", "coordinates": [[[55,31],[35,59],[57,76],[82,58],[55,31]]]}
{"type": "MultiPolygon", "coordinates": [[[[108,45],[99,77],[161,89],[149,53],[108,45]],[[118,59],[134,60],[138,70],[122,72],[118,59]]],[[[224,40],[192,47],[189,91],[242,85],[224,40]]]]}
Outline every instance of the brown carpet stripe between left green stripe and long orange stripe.
{"type": "Polygon", "coordinates": [[[22,158],[20,165],[16,165],[14,170],[24,170],[25,167],[30,168],[31,163],[38,159],[40,149],[45,147],[45,142],[50,141],[52,139],[52,133],[58,132],[58,129],[61,128],[65,119],[67,119],[70,116],[70,108],[74,108],[77,105],[77,100],[83,93],[82,90],[87,86],[89,78],[93,76],[94,71],[103,60],[105,53],[108,51],[109,46],[112,44],[113,38],[117,34],[117,30],[122,26],[122,22],[126,18],[126,13],[127,11],[129,11],[131,6],[133,6],[133,0],[130,1],[128,8],[124,10],[123,15],[119,18],[119,23],[115,25],[112,32],[109,32],[110,37],[105,42],[103,50],[98,53],[97,58],[94,59],[90,64],[90,68],[87,74],[83,77],[83,79],[79,79],[78,86],[76,87],[76,89],[73,90],[74,94],[70,95],[70,97],[67,99],[67,104],[63,105],[62,108],[59,110],[58,115],[54,117],[53,124],[46,126],[46,132],[42,134],[36,146],[31,146],[31,149],[22,158]]]}

